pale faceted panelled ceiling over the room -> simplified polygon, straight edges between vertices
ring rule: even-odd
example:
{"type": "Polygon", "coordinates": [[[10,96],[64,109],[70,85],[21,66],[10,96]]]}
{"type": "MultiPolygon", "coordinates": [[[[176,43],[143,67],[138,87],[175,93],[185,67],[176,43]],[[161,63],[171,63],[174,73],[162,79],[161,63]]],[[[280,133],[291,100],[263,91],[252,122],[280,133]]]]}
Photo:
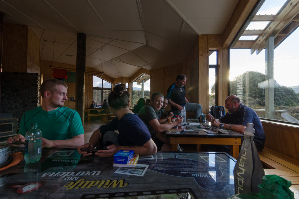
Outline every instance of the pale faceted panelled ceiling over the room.
{"type": "Polygon", "coordinates": [[[42,60],[75,65],[77,33],[85,33],[86,66],[117,78],[182,63],[198,35],[223,32],[237,3],[1,0],[0,11],[5,23],[27,25],[39,36],[42,60]]]}

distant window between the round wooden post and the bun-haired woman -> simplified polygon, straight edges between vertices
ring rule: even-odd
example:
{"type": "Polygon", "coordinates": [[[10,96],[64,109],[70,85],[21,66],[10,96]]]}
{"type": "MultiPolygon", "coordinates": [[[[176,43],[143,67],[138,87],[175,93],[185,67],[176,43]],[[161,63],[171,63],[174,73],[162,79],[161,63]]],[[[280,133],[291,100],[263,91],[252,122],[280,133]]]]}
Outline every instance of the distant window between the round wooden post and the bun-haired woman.
{"type": "Polygon", "coordinates": [[[111,91],[112,84],[97,77],[94,76],[93,78],[93,100],[96,101],[98,105],[101,105],[103,103],[104,99],[108,99],[109,91],[111,91]]]}

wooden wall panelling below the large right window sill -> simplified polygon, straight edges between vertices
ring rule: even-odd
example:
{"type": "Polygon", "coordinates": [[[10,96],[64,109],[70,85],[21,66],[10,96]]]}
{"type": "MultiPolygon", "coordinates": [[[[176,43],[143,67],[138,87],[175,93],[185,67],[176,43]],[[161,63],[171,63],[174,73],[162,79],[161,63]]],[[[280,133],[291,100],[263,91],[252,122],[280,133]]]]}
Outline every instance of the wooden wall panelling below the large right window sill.
{"type": "Polygon", "coordinates": [[[299,127],[262,120],[265,147],[299,160],[299,127]]]}

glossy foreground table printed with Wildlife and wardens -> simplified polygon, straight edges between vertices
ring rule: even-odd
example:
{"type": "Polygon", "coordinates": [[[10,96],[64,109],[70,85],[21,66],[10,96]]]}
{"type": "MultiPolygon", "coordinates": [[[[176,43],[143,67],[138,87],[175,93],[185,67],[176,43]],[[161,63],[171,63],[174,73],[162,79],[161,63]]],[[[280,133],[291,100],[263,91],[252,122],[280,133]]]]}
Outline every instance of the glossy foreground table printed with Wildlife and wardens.
{"type": "Polygon", "coordinates": [[[135,169],[113,158],[76,150],[43,149],[37,163],[0,172],[1,198],[228,198],[234,195],[235,160],[226,153],[158,152],[135,169]]]}

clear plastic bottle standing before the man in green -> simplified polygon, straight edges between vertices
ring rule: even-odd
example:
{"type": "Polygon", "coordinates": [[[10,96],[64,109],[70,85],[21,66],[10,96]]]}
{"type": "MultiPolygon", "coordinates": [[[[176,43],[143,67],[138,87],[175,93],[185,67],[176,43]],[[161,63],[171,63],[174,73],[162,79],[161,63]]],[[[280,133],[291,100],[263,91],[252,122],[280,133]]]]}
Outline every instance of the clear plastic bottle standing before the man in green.
{"type": "Polygon", "coordinates": [[[32,123],[31,129],[25,134],[24,152],[26,163],[39,161],[42,156],[42,131],[37,128],[37,123],[32,123]]]}

